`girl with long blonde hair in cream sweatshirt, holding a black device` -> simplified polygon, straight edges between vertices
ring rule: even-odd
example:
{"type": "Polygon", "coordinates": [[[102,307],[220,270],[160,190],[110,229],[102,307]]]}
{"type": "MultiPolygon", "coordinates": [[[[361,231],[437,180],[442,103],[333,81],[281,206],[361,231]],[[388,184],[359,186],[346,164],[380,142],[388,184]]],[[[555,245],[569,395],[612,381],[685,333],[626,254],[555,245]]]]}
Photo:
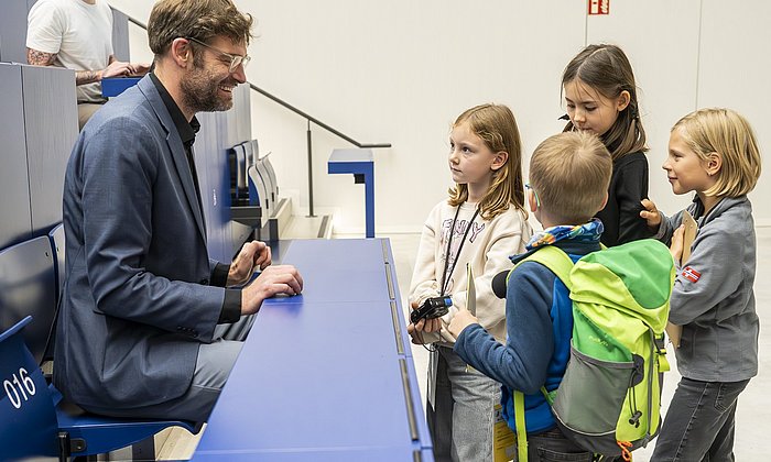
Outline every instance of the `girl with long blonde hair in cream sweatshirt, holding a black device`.
{"type": "Polygon", "coordinates": [[[506,302],[495,296],[490,283],[496,274],[511,268],[509,255],[524,252],[532,234],[523,208],[522,143],[508,107],[481,105],[458,116],[449,146],[456,185],[423,227],[410,302],[417,308],[428,298],[449,296],[453,305],[447,315],[420,320],[408,330],[414,343],[433,343],[426,417],[434,458],[491,461],[500,384],[453,352],[455,338],[446,328],[466,307],[466,264],[470,263],[476,316],[496,340],[506,341],[506,302]]]}

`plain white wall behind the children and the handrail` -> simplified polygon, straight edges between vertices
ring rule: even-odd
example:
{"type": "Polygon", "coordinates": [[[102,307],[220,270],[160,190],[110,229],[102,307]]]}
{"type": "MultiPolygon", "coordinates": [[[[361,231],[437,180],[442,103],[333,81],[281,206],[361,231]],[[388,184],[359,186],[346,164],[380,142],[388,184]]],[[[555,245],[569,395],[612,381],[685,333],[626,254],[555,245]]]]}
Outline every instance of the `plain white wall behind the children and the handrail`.
{"type": "MultiPolygon", "coordinates": [[[[149,0],[110,0],[146,22],[149,0]]],[[[670,127],[706,106],[727,106],[753,124],[764,152],[771,106],[763,85],[771,62],[771,2],[745,0],[612,0],[607,16],[587,16],[584,0],[237,0],[258,20],[249,47],[249,80],[376,150],[378,232],[419,231],[446,197],[447,134],[468,107],[509,105],[524,142],[524,164],[544,138],[561,131],[560,77],[585,44],[620,45],[634,67],[651,147],[651,198],[676,211],[689,201],[672,195],[660,166],[670,127]]],[[[132,55],[143,37],[131,28],[132,55]]],[[[146,43],[146,41],[144,41],[146,43]]],[[[272,152],[283,191],[307,207],[306,122],[253,94],[252,134],[272,152]]],[[[345,141],[312,127],[314,201],[335,208],[335,229],[363,232],[363,187],[349,175],[327,175],[326,160],[345,141]]],[[[526,170],[526,168],[525,168],[526,170]]],[[[771,180],[751,195],[759,224],[771,180]]]]}

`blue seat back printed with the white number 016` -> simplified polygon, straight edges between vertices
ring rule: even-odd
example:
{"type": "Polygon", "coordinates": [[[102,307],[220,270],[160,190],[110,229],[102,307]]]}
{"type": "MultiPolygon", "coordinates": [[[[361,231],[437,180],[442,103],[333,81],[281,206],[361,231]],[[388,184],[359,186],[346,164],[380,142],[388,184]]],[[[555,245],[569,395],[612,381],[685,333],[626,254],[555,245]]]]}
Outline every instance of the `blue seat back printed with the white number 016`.
{"type": "Polygon", "coordinates": [[[25,317],[0,333],[0,459],[58,454],[58,425],[37,362],[24,343],[25,317]]]}

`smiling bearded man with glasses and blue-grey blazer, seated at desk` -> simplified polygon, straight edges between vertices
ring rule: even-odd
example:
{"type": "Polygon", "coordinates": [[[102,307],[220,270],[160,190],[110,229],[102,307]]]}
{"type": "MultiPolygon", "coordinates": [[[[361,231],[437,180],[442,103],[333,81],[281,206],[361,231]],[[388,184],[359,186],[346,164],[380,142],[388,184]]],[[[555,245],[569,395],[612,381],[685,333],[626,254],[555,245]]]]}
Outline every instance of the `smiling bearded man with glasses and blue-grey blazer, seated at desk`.
{"type": "Polygon", "coordinates": [[[229,264],[206,249],[195,114],[232,106],[251,24],[230,0],[156,3],[153,69],[73,150],[54,383],[86,410],[206,420],[262,301],[302,290],[262,242],[229,264]]]}

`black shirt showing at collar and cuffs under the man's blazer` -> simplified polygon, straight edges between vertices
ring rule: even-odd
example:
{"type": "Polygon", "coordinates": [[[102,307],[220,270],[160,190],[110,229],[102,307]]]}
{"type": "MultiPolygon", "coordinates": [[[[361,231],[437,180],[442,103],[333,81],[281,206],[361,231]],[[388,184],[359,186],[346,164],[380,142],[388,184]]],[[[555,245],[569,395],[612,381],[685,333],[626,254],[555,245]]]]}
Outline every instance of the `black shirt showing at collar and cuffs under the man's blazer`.
{"type": "MultiPolygon", "coordinates": [[[[185,155],[187,156],[187,166],[191,169],[191,176],[193,177],[193,184],[195,185],[195,196],[198,199],[198,208],[200,209],[200,217],[204,218],[204,207],[200,201],[200,186],[198,185],[198,173],[195,168],[195,157],[193,155],[193,143],[195,143],[195,135],[200,130],[200,123],[198,119],[193,116],[193,119],[187,122],[185,114],[174,101],[174,98],[169,94],[169,90],[163,86],[161,80],[155,76],[154,73],[150,73],[150,79],[161,95],[163,105],[166,107],[169,114],[172,117],[174,122],[174,128],[180,134],[183,146],[185,146],[185,155]]],[[[206,227],[206,221],[204,221],[204,227],[206,227]]],[[[230,265],[217,264],[211,273],[211,285],[225,287],[228,280],[228,272],[230,271],[230,265]]],[[[241,317],[241,290],[240,289],[226,289],[225,290],[225,301],[222,302],[222,310],[219,314],[219,323],[236,322],[241,317]]]]}

